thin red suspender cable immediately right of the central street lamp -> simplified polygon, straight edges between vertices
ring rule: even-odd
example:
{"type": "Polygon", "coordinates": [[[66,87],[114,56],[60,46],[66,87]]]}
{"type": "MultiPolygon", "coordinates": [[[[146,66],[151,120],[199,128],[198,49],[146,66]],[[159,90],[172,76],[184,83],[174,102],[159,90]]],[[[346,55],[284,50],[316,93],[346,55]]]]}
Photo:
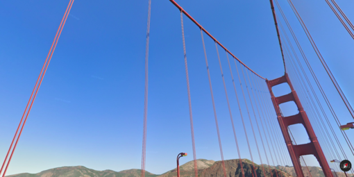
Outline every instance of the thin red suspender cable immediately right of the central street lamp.
{"type": "Polygon", "coordinates": [[[188,65],[187,65],[187,54],[185,51],[185,30],[183,28],[183,12],[180,12],[180,23],[182,26],[182,38],[183,38],[183,53],[185,58],[185,77],[187,80],[187,92],[188,92],[188,106],[189,106],[189,119],[190,119],[190,127],[192,134],[192,146],[193,146],[193,160],[194,160],[194,175],[198,177],[198,169],[196,166],[196,146],[194,143],[194,128],[193,128],[193,117],[192,117],[192,102],[190,99],[190,90],[189,90],[189,76],[188,76],[188,65]]]}

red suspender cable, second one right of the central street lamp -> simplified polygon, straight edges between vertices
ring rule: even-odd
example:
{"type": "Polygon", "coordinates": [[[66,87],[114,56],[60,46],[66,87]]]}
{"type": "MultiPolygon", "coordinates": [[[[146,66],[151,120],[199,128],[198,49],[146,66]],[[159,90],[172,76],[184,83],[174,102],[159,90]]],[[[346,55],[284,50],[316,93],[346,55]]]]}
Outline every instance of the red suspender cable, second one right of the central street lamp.
{"type": "Polygon", "coordinates": [[[222,146],[221,146],[221,139],[220,139],[220,133],[219,133],[219,124],[217,124],[217,110],[215,109],[214,95],[212,94],[212,81],[211,81],[211,79],[210,79],[210,71],[209,71],[209,65],[208,65],[208,58],[207,58],[207,56],[206,56],[206,51],[205,51],[203,30],[201,30],[201,40],[202,40],[202,42],[203,42],[203,49],[204,49],[204,56],[205,56],[205,64],[206,64],[207,71],[208,71],[210,94],[211,94],[211,96],[212,96],[212,108],[213,108],[213,110],[214,110],[215,124],[216,124],[216,126],[217,126],[217,137],[218,137],[218,139],[219,139],[219,148],[220,148],[220,153],[221,153],[221,161],[222,161],[223,170],[224,170],[224,177],[226,177],[226,169],[225,169],[225,162],[224,162],[224,154],[223,154],[223,149],[222,149],[222,146]]]}

